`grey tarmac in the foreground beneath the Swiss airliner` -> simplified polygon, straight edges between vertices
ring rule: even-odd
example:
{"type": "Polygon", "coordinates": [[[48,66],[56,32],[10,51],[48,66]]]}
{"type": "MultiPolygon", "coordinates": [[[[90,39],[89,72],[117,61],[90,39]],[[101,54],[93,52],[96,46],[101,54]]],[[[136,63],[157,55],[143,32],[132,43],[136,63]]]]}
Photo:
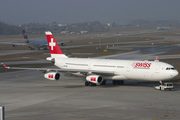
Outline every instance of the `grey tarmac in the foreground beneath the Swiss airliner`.
{"type": "Polygon", "coordinates": [[[0,74],[0,106],[6,120],[179,120],[180,87],[159,91],[153,83],[85,86],[83,78],[50,81],[41,72],[0,74]]]}

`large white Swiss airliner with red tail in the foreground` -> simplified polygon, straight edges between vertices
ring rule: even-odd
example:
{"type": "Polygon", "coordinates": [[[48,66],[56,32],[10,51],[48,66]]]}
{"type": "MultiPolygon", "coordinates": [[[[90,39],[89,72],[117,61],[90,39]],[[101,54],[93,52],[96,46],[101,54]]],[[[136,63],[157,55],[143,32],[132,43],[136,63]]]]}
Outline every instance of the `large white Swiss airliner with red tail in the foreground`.
{"type": "Polygon", "coordinates": [[[167,81],[179,74],[172,65],[160,62],[158,57],[155,61],[69,58],[62,52],[52,33],[47,31],[45,34],[51,53],[51,57],[46,60],[51,61],[58,69],[9,67],[3,63],[2,65],[7,69],[42,71],[44,77],[49,80],[59,80],[60,72],[82,76],[85,78],[85,86],[105,85],[107,80],[112,81],[114,85],[123,85],[124,80],[167,81]]]}

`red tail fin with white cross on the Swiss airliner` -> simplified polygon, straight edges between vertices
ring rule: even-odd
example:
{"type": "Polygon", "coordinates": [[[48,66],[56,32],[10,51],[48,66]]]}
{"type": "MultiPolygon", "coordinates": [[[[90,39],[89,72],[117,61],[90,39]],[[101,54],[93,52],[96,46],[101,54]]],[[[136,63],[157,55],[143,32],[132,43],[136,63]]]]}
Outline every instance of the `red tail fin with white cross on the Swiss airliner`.
{"type": "Polygon", "coordinates": [[[45,32],[45,34],[47,37],[47,42],[48,42],[49,50],[51,53],[51,57],[52,58],[67,58],[67,56],[64,55],[64,53],[61,51],[52,33],[50,31],[47,31],[45,32]]]}

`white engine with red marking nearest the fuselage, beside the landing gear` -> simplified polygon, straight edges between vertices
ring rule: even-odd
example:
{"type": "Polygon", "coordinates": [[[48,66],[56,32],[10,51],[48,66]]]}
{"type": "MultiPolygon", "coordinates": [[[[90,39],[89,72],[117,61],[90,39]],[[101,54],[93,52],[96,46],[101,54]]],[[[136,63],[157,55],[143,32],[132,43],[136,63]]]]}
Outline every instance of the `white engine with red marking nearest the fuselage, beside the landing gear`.
{"type": "Polygon", "coordinates": [[[103,81],[100,75],[89,75],[86,77],[86,80],[92,83],[101,83],[103,81]]]}

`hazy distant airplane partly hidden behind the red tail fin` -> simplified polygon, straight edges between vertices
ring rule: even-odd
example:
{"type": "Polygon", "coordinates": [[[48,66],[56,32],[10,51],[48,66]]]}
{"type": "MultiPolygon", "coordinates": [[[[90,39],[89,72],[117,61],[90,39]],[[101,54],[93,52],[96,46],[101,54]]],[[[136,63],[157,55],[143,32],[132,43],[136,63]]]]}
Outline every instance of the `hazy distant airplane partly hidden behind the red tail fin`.
{"type": "MultiPolygon", "coordinates": [[[[46,39],[36,39],[36,40],[28,39],[28,36],[27,36],[25,30],[23,30],[23,36],[24,36],[24,41],[26,44],[13,43],[13,47],[16,47],[18,45],[28,45],[28,47],[31,50],[34,50],[35,48],[38,48],[38,49],[43,48],[44,50],[47,50],[48,44],[47,44],[46,39]]],[[[72,40],[71,41],[58,42],[58,44],[60,44],[61,46],[65,46],[66,43],[69,43],[69,42],[72,42],[72,40]]]]}

